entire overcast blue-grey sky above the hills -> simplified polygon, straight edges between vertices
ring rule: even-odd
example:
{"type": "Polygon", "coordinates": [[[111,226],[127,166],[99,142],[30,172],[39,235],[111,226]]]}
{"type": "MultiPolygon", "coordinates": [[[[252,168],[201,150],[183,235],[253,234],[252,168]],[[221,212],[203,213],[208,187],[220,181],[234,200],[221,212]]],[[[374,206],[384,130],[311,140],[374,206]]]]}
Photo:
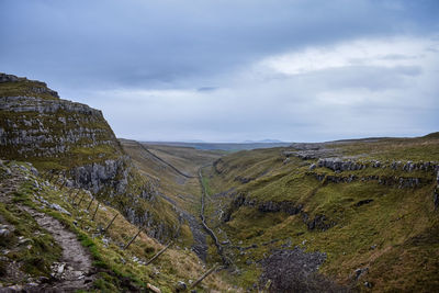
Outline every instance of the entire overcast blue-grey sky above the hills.
{"type": "Polygon", "coordinates": [[[0,0],[0,71],[139,140],[439,131],[438,0],[0,0]]]}

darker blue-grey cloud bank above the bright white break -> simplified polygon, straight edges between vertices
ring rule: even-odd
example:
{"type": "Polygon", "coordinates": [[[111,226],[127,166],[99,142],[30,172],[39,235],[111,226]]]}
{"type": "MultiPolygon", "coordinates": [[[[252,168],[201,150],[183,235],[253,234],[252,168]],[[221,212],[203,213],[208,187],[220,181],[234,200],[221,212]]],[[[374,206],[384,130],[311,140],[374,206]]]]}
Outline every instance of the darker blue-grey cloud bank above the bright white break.
{"type": "Polygon", "coordinates": [[[430,30],[436,1],[391,2],[404,9],[346,0],[4,0],[0,61],[61,88],[188,87],[285,49],[430,30]]]}

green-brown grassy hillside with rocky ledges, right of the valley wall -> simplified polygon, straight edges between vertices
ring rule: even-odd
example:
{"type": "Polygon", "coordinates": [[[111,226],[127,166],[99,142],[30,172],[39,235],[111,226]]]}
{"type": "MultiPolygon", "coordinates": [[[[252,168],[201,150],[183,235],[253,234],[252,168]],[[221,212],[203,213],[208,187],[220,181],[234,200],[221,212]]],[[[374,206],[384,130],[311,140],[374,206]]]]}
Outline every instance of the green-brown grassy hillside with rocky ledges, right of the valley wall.
{"type": "Polygon", "coordinates": [[[438,136],[326,143],[316,149],[239,151],[205,169],[211,224],[230,241],[227,252],[243,270],[238,282],[257,284],[273,249],[297,246],[325,252],[318,272],[346,288],[437,291],[438,174],[437,167],[419,166],[439,162],[438,136]],[[328,156],[364,167],[318,167],[318,158],[328,156]],[[407,161],[418,167],[409,170],[407,161]]]}

